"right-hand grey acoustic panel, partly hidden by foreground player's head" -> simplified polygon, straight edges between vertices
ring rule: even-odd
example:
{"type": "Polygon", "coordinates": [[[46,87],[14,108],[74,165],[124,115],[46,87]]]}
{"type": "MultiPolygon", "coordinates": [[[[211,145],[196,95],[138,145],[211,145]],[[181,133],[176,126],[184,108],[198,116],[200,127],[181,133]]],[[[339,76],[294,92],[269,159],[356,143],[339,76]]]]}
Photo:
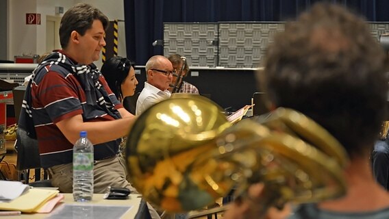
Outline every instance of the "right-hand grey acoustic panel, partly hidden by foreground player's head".
{"type": "Polygon", "coordinates": [[[219,23],[219,66],[257,68],[284,23],[219,23]]]}

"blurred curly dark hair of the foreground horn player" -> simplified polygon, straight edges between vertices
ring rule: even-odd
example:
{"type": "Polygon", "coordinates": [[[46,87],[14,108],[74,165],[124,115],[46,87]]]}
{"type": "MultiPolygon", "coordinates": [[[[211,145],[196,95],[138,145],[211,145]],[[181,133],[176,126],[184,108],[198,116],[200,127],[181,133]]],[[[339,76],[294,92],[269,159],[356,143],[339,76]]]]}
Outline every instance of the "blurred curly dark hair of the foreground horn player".
{"type": "Polygon", "coordinates": [[[385,118],[386,62],[363,18],[318,3],[275,36],[264,86],[277,107],[313,118],[353,158],[366,155],[385,118]]]}

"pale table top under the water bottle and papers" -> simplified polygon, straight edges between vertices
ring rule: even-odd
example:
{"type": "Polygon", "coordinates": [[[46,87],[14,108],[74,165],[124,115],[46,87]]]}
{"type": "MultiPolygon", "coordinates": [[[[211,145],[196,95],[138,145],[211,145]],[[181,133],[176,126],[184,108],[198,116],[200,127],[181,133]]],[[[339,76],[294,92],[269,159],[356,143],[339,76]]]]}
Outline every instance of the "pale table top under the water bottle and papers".
{"type": "MultiPolygon", "coordinates": [[[[106,214],[110,213],[116,213],[117,211],[114,209],[114,207],[118,208],[121,207],[121,210],[124,209],[124,214],[121,216],[121,218],[135,218],[136,214],[138,213],[138,209],[140,206],[141,196],[139,194],[130,194],[128,199],[125,200],[107,200],[103,199],[103,194],[93,194],[92,201],[85,202],[85,203],[77,203],[73,201],[73,194],[64,194],[64,201],[60,203],[60,205],[56,206],[53,211],[51,211],[50,214],[25,214],[22,213],[18,216],[6,216],[7,218],[29,218],[29,219],[38,219],[38,218],[60,218],[57,216],[62,209],[65,209],[65,207],[71,207],[68,209],[71,209],[73,212],[66,211],[66,218],[68,218],[69,215],[77,215],[81,216],[84,219],[87,218],[103,218],[104,216],[97,215],[99,213],[100,209],[107,209],[105,212],[106,214]],[[77,208],[77,207],[81,207],[77,208]],[[103,208],[104,207],[104,208],[103,208]],[[125,209],[125,207],[128,207],[128,209],[125,209]],[[89,209],[88,209],[89,208],[89,209]],[[87,209],[87,211],[85,211],[87,209]],[[92,209],[92,211],[90,211],[92,209]],[[110,210],[112,212],[110,212],[110,210]],[[81,212],[80,212],[81,211],[81,212]],[[114,212],[116,211],[116,212],[114,212]]],[[[101,211],[100,211],[101,212],[101,211]]],[[[62,213],[62,212],[61,212],[62,213]]],[[[110,217],[114,218],[114,217],[110,217]]]]}

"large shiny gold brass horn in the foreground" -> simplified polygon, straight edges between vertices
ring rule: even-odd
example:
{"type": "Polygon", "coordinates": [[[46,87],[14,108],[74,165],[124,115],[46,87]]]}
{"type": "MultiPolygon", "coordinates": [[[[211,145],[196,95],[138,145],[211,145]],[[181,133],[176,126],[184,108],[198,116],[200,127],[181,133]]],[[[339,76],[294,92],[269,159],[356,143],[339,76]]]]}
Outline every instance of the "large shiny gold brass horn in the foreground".
{"type": "Polygon", "coordinates": [[[199,95],[174,94],[139,116],[127,139],[131,183],[170,212],[201,209],[234,187],[265,184],[264,205],[342,196],[348,158],[313,120],[278,108],[231,125],[199,95]]]}

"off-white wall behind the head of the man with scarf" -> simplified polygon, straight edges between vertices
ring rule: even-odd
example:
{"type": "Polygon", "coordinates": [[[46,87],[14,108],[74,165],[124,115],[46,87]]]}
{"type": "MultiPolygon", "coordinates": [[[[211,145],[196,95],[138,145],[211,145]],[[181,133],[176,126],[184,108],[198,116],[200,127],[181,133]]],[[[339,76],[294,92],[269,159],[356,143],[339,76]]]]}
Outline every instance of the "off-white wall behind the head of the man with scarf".
{"type": "MultiPolygon", "coordinates": [[[[14,60],[14,55],[34,55],[46,52],[46,16],[55,14],[55,6],[64,7],[64,12],[76,3],[90,3],[99,8],[110,21],[124,20],[123,0],[10,0],[9,1],[9,31],[8,59],[14,60]],[[26,25],[26,13],[39,13],[40,25],[26,25]]],[[[63,14],[61,14],[62,16],[63,14]]],[[[118,55],[125,56],[124,24],[119,23],[118,55]]],[[[101,66],[102,62],[95,62],[101,66]]]]}

